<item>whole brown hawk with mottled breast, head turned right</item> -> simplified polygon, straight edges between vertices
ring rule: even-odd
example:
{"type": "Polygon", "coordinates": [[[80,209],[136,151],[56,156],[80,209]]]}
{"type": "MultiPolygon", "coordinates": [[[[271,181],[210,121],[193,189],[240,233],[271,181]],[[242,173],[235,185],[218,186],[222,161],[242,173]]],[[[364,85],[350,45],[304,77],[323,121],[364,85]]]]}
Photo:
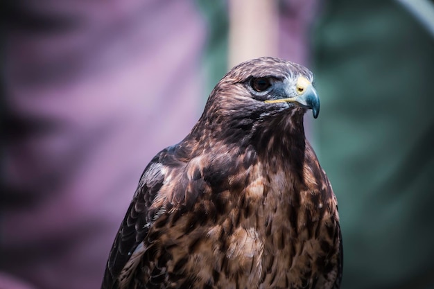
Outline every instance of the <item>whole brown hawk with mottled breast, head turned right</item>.
{"type": "Polygon", "coordinates": [[[340,288],[336,197],[304,136],[312,81],[279,58],[229,71],[144,170],[102,288],[340,288]]]}

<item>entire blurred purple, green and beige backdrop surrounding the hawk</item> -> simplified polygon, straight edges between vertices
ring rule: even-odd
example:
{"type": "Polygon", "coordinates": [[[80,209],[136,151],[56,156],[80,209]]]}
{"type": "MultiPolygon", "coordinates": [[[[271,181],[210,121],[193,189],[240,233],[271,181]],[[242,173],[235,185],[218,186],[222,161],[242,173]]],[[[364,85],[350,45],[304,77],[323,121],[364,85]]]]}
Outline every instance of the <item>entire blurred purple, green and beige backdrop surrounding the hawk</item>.
{"type": "Polygon", "coordinates": [[[99,288],[148,161],[273,55],[315,75],[342,289],[434,288],[430,0],[3,3],[0,288],[99,288]]]}

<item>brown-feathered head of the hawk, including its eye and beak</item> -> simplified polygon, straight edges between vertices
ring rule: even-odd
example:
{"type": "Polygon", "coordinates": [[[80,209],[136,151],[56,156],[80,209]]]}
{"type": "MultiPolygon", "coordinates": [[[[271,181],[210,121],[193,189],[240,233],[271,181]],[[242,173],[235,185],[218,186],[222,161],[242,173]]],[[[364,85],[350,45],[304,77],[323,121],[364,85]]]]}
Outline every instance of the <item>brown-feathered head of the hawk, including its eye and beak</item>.
{"type": "Polygon", "coordinates": [[[316,119],[320,99],[312,85],[313,75],[300,64],[263,57],[238,64],[214,87],[205,114],[229,121],[261,121],[282,112],[312,110],[316,119]],[[223,116],[223,117],[222,117],[223,116]]]}

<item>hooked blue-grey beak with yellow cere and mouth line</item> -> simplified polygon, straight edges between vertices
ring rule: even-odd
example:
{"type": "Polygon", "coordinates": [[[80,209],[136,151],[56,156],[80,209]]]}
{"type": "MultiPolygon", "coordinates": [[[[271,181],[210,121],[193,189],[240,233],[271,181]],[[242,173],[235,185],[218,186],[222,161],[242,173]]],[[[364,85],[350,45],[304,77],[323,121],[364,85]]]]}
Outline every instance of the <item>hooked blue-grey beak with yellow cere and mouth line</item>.
{"type": "Polygon", "coordinates": [[[320,114],[320,98],[316,93],[315,88],[309,80],[300,76],[297,80],[297,96],[290,98],[281,98],[274,100],[265,100],[266,103],[295,103],[301,107],[306,107],[312,110],[313,118],[317,118],[320,114]]]}

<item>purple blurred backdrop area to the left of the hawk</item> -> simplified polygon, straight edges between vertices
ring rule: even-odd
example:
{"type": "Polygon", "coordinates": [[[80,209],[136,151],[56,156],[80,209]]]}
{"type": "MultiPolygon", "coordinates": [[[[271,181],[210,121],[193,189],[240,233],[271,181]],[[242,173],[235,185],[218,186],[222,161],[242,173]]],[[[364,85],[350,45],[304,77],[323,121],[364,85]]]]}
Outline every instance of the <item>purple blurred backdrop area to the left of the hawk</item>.
{"type": "Polygon", "coordinates": [[[142,170],[200,116],[204,20],[191,1],[49,0],[6,20],[0,268],[99,288],[142,170]]]}

